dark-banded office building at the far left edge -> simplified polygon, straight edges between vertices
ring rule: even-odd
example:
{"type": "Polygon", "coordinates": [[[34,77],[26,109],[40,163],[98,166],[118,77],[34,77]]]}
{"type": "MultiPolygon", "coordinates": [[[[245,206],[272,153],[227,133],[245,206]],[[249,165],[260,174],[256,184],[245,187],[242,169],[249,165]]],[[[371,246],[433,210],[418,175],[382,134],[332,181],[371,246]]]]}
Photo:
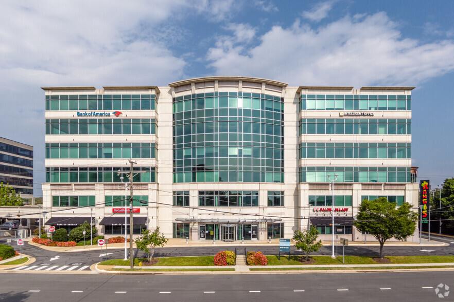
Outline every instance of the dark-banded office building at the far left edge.
{"type": "Polygon", "coordinates": [[[23,199],[33,197],[33,147],[0,137],[0,182],[23,199]]]}

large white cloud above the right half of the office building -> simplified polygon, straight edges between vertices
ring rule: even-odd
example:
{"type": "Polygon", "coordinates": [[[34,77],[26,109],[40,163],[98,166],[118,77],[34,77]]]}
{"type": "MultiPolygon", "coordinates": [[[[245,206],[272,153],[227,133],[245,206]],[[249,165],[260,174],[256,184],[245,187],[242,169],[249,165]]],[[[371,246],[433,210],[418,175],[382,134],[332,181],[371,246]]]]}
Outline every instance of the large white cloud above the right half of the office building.
{"type": "Polygon", "coordinates": [[[244,74],[291,85],[417,85],[454,70],[454,43],[406,39],[386,13],[344,17],[319,28],[274,26],[250,49],[219,44],[207,52],[216,74],[244,74]]]}

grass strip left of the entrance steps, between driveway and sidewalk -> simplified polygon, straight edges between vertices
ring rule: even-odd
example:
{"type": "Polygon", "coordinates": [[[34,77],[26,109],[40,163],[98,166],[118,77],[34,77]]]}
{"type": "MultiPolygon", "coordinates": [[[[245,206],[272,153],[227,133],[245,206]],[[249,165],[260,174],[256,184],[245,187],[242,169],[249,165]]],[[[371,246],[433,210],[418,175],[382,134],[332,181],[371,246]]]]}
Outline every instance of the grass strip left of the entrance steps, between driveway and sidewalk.
{"type": "MultiPolygon", "coordinates": [[[[215,266],[213,263],[214,256],[198,256],[198,257],[165,257],[165,258],[153,258],[159,259],[158,263],[154,266],[164,266],[164,267],[205,267],[205,266],[215,266]]],[[[134,266],[138,266],[140,261],[146,261],[146,258],[136,258],[134,259],[134,266]]],[[[103,266],[129,266],[129,260],[123,259],[111,259],[107,261],[102,261],[99,265],[103,266]]]]}

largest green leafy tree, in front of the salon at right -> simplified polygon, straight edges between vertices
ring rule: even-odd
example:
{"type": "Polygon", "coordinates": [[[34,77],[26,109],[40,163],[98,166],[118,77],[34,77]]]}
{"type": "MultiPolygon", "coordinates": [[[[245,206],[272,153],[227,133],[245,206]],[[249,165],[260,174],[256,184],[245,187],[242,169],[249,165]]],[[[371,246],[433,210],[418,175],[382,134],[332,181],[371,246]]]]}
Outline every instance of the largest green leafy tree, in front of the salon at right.
{"type": "Polygon", "coordinates": [[[383,244],[388,239],[404,240],[413,235],[418,214],[411,211],[411,204],[404,202],[396,208],[386,197],[364,199],[358,208],[355,227],[374,236],[380,243],[380,259],[383,259],[383,244]]]}

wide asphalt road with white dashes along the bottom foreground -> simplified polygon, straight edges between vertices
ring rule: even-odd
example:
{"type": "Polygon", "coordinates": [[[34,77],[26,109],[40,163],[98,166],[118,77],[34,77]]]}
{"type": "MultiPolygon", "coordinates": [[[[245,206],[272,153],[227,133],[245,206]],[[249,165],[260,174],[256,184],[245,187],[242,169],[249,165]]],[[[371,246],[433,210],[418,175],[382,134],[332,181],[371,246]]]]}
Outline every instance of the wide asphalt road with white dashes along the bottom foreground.
{"type": "Polygon", "coordinates": [[[4,274],[0,301],[435,301],[454,287],[452,271],[42,276],[4,274]]]}

